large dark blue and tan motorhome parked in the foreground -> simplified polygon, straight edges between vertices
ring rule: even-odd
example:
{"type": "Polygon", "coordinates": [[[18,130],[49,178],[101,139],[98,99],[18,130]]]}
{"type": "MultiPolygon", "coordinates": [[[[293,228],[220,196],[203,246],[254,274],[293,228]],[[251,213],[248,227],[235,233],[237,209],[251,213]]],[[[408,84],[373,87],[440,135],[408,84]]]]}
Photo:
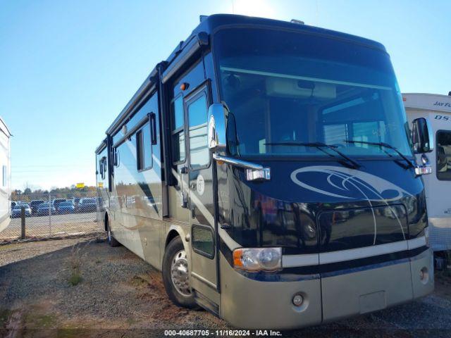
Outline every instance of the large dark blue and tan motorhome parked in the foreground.
{"type": "Polygon", "coordinates": [[[382,44],[202,17],[97,147],[99,224],[174,303],[235,327],[412,301],[433,291],[431,167],[414,157],[433,135],[425,118],[410,130],[382,44]]]}

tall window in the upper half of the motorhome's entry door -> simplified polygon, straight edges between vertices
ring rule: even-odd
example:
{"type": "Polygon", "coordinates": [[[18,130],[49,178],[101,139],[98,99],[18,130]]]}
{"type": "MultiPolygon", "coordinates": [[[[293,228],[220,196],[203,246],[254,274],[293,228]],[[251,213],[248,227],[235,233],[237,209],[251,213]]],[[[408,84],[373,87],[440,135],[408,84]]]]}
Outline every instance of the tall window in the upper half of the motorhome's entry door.
{"type": "Polygon", "coordinates": [[[202,93],[188,106],[188,125],[190,127],[188,137],[190,139],[190,166],[193,169],[203,168],[209,165],[210,155],[207,137],[206,95],[202,93]]]}

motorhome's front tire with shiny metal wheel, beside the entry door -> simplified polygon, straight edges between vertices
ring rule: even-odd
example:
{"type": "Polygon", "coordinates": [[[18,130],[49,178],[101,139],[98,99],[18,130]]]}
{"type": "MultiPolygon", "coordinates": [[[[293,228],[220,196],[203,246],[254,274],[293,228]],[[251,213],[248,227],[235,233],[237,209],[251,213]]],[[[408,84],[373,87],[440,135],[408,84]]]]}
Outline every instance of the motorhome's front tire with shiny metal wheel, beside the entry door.
{"type": "Polygon", "coordinates": [[[196,308],[191,292],[188,262],[182,239],[175,237],[166,246],[163,256],[163,284],[169,299],[184,308],[196,308]]]}

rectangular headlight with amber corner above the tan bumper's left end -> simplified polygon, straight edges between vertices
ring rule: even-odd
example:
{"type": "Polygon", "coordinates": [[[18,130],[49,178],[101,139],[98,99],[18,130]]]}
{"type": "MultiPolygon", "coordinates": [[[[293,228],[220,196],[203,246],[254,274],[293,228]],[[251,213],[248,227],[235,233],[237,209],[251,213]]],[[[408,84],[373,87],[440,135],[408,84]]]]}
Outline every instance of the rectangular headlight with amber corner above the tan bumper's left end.
{"type": "Polygon", "coordinates": [[[240,248],[233,251],[233,267],[257,273],[282,268],[282,248],[240,248]]]}

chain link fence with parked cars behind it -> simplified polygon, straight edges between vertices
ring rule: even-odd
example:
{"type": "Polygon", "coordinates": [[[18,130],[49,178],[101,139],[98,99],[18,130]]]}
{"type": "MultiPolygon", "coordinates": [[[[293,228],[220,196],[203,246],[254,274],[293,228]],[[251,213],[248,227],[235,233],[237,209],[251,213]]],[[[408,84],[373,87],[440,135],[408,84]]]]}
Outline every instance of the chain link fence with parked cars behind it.
{"type": "Polygon", "coordinates": [[[101,205],[95,192],[21,194],[11,203],[11,222],[0,232],[0,242],[101,232],[101,205]]]}

